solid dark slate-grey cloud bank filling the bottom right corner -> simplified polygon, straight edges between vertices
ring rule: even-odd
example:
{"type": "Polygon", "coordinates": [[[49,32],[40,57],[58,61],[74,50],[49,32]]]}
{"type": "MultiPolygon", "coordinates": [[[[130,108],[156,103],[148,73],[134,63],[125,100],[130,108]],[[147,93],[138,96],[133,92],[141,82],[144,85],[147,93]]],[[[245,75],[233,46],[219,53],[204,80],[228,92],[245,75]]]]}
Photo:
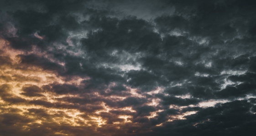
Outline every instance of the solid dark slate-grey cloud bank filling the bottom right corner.
{"type": "Polygon", "coordinates": [[[165,127],[156,127],[153,129],[154,132],[147,135],[197,136],[207,134],[214,136],[225,134],[231,136],[246,134],[252,136],[251,125],[255,125],[255,115],[249,112],[251,106],[251,103],[246,101],[234,101],[205,108],[194,115],[187,116],[186,120],[177,120],[166,124],[165,127]],[[233,117],[236,119],[234,120],[233,117]]]}

